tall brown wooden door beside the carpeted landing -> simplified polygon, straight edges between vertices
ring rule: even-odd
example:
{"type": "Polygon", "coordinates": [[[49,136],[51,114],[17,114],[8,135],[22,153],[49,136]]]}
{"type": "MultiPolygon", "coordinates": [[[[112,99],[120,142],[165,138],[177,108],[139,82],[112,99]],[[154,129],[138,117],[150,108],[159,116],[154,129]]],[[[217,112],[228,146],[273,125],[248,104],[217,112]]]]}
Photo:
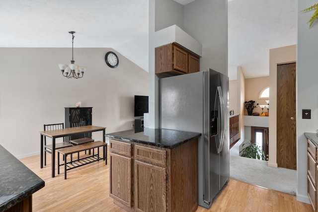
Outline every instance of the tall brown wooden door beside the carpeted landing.
{"type": "Polygon", "coordinates": [[[277,165],[296,170],[296,63],[277,65],[277,165]]]}

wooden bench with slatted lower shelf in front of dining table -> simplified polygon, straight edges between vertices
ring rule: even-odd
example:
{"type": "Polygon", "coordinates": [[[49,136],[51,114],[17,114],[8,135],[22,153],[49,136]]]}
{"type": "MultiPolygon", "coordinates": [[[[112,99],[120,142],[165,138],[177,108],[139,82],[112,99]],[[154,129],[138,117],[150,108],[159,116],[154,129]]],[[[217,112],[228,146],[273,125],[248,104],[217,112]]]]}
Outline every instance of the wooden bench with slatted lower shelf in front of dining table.
{"type": "Polygon", "coordinates": [[[84,143],[81,145],[70,146],[66,148],[57,149],[58,152],[58,174],[60,174],[60,166],[64,165],[64,179],[66,179],[66,173],[68,170],[83,166],[100,159],[105,160],[105,165],[107,165],[107,143],[102,141],[95,141],[90,143],[84,143]],[[103,157],[99,157],[99,147],[103,147],[103,157]],[[97,154],[95,154],[94,149],[97,148],[97,154]],[[92,154],[83,158],[77,158],[73,160],[72,154],[79,153],[80,151],[92,150],[92,154]],[[64,155],[64,163],[60,164],[60,154],[64,155]],[[71,155],[71,161],[67,162],[67,156],[71,155]]]}

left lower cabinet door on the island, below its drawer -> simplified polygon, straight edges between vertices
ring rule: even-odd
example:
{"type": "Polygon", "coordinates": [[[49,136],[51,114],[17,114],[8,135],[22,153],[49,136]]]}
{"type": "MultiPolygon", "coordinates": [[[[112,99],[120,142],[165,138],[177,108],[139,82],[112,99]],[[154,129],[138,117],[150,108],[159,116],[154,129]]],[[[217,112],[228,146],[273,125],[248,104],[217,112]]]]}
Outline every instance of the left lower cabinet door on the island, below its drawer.
{"type": "Polygon", "coordinates": [[[131,158],[114,153],[110,155],[110,197],[131,207],[131,158]]]}

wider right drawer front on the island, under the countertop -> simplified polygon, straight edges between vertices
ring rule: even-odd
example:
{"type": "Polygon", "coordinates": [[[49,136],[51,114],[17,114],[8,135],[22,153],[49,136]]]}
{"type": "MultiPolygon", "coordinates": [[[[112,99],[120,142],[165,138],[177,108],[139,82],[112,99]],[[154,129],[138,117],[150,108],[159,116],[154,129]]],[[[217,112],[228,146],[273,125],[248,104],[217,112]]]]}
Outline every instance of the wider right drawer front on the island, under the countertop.
{"type": "Polygon", "coordinates": [[[165,166],[166,151],[146,146],[135,145],[135,159],[165,166]]]}

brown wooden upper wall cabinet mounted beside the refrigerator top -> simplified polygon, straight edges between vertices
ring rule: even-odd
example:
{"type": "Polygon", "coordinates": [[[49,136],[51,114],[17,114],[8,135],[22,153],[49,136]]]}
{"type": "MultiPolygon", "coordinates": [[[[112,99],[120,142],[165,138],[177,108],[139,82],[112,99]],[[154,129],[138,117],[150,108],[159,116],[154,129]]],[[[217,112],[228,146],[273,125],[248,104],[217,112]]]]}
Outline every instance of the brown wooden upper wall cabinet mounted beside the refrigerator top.
{"type": "Polygon", "coordinates": [[[160,78],[200,71],[199,56],[177,43],[159,46],[155,51],[155,73],[160,78]]]}

